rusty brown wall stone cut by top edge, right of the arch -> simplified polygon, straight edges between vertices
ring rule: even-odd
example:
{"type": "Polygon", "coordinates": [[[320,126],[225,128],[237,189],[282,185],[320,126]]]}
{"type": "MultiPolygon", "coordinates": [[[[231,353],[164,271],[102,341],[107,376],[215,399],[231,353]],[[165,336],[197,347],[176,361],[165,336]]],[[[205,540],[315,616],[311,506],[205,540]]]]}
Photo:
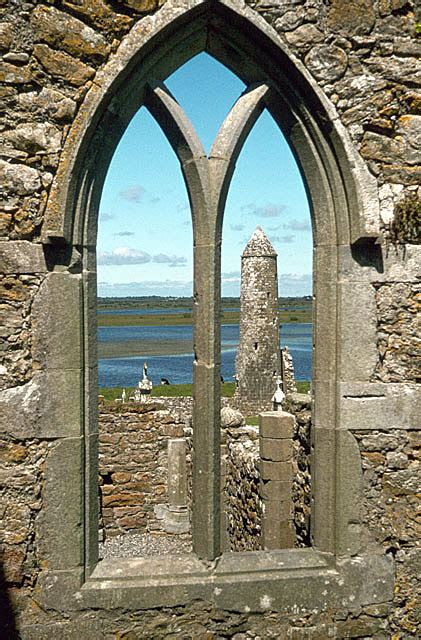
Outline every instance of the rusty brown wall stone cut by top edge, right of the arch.
{"type": "Polygon", "coordinates": [[[328,16],[328,25],[340,33],[365,34],[374,26],[375,13],[372,0],[353,0],[342,2],[332,0],[328,16]]]}

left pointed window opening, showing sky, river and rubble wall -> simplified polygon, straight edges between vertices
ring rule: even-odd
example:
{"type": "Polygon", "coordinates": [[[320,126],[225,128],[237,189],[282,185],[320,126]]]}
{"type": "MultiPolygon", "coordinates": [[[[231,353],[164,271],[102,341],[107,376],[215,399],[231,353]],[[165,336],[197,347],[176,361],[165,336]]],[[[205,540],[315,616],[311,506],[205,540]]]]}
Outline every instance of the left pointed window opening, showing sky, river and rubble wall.
{"type": "Polygon", "coordinates": [[[190,451],[162,396],[191,383],[191,219],[177,159],[145,108],[109,167],[97,262],[100,556],[190,551],[190,451]]]}

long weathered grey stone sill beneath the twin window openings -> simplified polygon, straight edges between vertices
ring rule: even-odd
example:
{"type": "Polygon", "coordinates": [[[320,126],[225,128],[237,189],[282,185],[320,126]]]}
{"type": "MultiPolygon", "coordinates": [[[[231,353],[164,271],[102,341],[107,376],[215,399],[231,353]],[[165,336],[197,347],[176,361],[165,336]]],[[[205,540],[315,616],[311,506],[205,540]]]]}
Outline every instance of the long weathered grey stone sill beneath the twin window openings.
{"type": "Polygon", "coordinates": [[[114,558],[101,560],[82,587],[80,571],[48,572],[40,586],[43,604],[63,610],[140,610],[202,600],[231,611],[300,613],[390,600],[393,562],[382,555],[335,562],[313,549],[226,553],[209,565],[193,554],[114,558]]]}

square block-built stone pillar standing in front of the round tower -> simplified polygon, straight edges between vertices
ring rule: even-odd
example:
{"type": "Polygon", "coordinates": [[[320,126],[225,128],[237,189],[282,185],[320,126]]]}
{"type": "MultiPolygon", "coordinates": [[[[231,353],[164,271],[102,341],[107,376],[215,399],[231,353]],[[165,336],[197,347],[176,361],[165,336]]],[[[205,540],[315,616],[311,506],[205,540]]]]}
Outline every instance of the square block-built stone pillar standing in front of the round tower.
{"type": "Polygon", "coordinates": [[[295,418],[285,411],[267,411],[259,418],[262,547],[290,549],[295,545],[292,501],[295,418]]]}

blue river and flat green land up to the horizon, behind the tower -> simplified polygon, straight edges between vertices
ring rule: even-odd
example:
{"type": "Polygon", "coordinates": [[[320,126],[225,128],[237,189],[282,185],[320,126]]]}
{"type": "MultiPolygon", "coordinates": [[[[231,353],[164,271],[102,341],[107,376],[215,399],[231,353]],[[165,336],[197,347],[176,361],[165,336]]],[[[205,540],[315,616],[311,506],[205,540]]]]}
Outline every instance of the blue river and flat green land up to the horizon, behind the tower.
{"type": "MultiPolygon", "coordinates": [[[[311,378],[311,299],[280,299],[280,343],[294,358],[298,380],[311,378]]],[[[135,387],[148,362],[154,385],[192,381],[191,298],[125,298],[98,301],[99,387],[135,387]]],[[[222,300],[221,374],[232,380],[239,341],[239,300],[222,300]]]]}

